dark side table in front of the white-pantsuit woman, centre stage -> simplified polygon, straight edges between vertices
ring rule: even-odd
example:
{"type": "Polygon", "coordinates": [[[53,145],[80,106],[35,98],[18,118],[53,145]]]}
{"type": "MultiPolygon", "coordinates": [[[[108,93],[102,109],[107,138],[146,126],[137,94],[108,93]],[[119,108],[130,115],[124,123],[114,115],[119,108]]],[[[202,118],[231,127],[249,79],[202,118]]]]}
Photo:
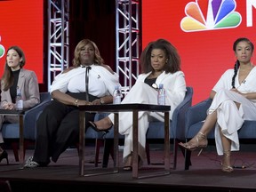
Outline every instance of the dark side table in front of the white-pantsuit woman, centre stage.
{"type": "Polygon", "coordinates": [[[117,105],[84,105],[79,106],[79,175],[80,176],[92,176],[96,174],[116,173],[118,172],[118,113],[119,112],[132,112],[133,132],[132,132],[132,178],[148,178],[160,175],[170,174],[170,115],[169,112],[171,106],[159,106],[149,104],[117,104],[117,105]],[[164,113],[164,172],[157,174],[150,174],[139,176],[138,165],[138,115],[139,111],[154,111],[164,113]],[[114,169],[112,172],[98,172],[84,174],[84,138],[85,138],[85,112],[108,112],[114,113],[114,169]]]}

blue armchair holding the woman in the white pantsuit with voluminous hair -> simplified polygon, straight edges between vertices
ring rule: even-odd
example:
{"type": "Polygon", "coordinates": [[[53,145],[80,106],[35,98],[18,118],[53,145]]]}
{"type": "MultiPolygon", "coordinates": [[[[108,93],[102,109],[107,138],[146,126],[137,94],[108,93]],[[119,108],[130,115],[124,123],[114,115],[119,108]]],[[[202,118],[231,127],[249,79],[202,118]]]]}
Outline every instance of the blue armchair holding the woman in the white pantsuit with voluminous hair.
{"type": "MultiPolygon", "coordinates": [[[[173,169],[176,169],[177,164],[177,150],[178,142],[185,140],[185,113],[188,108],[192,105],[193,88],[187,87],[187,93],[185,99],[180,105],[173,111],[172,121],[170,121],[170,139],[173,139],[173,169]]],[[[108,166],[109,153],[112,152],[113,144],[113,129],[104,135],[104,153],[103,153],[103,167],[108,166]]],[[[120,135],[121,140],[124,139],[124,135],[120,135]]],[[[147,132],[147,144],[146,151],[148,157],[148,164],[150,164],[149,146],[148,143],[151,141],[164,140],[164,123],[163,122],[151,122],[147,132]]],[[[183,149],[182,149],[183,150],[183,149]]],[[[184,153],[184,151],[182,151],[184,153]]]]}

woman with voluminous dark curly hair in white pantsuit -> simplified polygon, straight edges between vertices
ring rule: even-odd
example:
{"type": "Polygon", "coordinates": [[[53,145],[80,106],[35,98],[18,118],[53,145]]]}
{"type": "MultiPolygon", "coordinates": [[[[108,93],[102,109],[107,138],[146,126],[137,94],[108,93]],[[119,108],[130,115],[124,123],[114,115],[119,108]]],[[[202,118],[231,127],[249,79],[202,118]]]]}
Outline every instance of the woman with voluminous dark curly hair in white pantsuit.
{"type": "MultiPolygon", "coordinates": [[[[180,56],[176,48],[164,39],[148,44],[140,55],[142,73],[136,83],[122,100],[122,103],[157,104],[157,87],[164,84],[166,92],[165,104],[171,106],[170,119],[174,109],[184,99],[186,82],[184,73],[180,71],[180,56]]],[[[140,164],[146,158],[145,145],[148,124],[153,119],[164,122],[164,113],[139,112],[139,156],[140,164]]],[[[108,130],[114,124],[114,114],[91,122],[96,131],[108,130]]],[[[119,114],[119,132],[125,135],[124,170],[132,170],[132,112],[119,114]]]]}

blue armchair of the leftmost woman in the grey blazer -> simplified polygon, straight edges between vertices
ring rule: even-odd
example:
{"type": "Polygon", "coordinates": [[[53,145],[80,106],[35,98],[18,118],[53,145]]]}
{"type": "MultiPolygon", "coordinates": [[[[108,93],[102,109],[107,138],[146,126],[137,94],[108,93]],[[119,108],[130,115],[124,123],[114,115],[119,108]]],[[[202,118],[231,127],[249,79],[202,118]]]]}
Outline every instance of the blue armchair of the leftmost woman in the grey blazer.
{"type": "MultiPolygon", "coordinates": [[[[25,150],[29,144],[29,141],[34,142],[36,140],[36,119],[42,112],[44,107],[51,100],[51,95],[49,92],[40,92],[41,102],[34,108],[30,108],[25,112],[23,117],[24,126],[24,155],[25,150]]],[[[4,123],[2,127],[2,134],[4,142],[11,142],[12,150],[15,156],[15,160],[19,161],[18,149],[19,149],[19,139],[20,139],[20,124],[8,124],[4,123]]]]}

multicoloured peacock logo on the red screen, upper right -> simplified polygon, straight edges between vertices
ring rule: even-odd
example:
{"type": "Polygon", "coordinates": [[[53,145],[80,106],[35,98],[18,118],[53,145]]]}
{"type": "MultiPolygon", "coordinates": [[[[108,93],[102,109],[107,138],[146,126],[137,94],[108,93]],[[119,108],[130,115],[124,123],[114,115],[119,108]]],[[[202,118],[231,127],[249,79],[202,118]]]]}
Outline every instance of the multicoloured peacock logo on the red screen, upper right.
{"type": "Polygon", "coordinates": [[[186,5],[180,28],[185,32],[236,28],[242,17],[235,10],[235,0],[196,0],[186,5]]]}

